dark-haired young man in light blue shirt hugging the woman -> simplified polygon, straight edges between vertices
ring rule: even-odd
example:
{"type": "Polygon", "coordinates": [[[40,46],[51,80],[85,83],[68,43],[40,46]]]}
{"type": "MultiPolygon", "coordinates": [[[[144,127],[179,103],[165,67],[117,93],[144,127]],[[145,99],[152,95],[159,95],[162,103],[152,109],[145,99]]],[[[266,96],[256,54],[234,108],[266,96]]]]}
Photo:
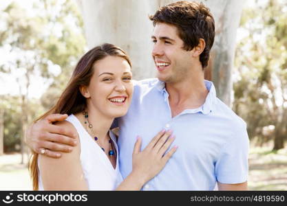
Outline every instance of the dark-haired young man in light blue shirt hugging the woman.
{"type": "MultiPolygon", "coordinates": [[[[248,135],[246,124],[216,98],[212,82],[204,80],[215,27],[213,16],[202,3],[178,1],[150,16],[154,32],[152,56],[158,79],[135,82],[127,115],[118,119],[120,171],[131,172],[136,136],[142,148],[162,128],[173,130],[178,151],[160,174],[143,190],[246,190],[248,135]]],[[[67,131],[50,122],[65,116],[50,115],[30,129],[28,144],[34,150],[67,151],[67,131]],[[56,135],[54,133],[62,134],[56,135]]]]}

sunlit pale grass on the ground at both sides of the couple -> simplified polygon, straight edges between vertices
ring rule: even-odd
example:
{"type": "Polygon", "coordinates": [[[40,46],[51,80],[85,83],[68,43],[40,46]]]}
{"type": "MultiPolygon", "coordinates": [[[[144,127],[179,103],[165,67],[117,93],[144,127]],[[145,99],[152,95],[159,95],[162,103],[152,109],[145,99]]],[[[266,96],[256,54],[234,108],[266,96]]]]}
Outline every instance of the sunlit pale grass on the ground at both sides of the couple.
{"type": "MultiPolygon", "coordinates": [[[[20,154],[0,156],[0,190],[32,190],[27,155],[20,161],[20,154]]],[[[287,190],[287,148],[251,146],[248,162],[249,190],[287,190]]]]}

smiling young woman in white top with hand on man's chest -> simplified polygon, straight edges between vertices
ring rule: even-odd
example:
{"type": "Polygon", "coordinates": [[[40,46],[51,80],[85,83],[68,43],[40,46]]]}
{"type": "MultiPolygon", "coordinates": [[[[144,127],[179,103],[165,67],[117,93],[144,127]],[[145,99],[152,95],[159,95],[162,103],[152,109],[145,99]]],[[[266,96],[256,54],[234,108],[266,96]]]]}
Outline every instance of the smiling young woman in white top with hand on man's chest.
{"type": "Polygon", "coordinates": [[[141,139],[135,137],[133,170],[125,180],[120,175],[110,128],[114,118],[127,113],[132,93],[131,62],[122,49],[103,44],[87,52],[56,105],[45,113],[69,115],[56,124],[78,133],[79,144],[61,159],[33,153],[34,190],[140,190],[158,174],[176,152],[176,147],[167,152],[174,139],[171,131],[162,130],[142,151],[141,139]]]}

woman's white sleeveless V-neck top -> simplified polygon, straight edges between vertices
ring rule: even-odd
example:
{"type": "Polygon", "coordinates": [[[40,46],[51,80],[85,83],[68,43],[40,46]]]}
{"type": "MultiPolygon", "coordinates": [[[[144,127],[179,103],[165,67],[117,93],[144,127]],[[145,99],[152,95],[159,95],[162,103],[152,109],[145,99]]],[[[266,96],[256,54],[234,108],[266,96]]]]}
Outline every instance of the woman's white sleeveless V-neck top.
{"type": "MultiPolygon", "coordinates": [[[[123,177],[118,166],[118,146],[114,133],[109,131],[109,137],[111,137],[116,148],[116,169],[113,168],[105,152],[90,137],[78,118],[70,115],[66,120],[71,122],[78,132],[81,144],[80,159],[89,190],[115,190],[123,181],[123,177]]],[[[39,172],[39,190],[44,190],[41,172],[39,172]]]]}

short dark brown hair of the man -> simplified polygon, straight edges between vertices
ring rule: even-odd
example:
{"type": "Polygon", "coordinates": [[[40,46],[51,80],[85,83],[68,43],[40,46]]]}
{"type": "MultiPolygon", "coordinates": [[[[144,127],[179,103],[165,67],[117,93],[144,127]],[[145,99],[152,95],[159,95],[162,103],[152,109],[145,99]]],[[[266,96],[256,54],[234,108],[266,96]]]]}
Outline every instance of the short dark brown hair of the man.
{"type": "Polygon", "coordinates": [[[169,23],[178,28],[178,35],[184,42],[183,49],[190,51],[196,47],[200,38],[205,41],[205,48],[200,54],[202,67],[209,61],[209,52],[215,36],[214,19],[209,8],[203,3],[192,1],[177,1],[161,7],[156,14],[149,16],[156,23],[169,23]]]}

